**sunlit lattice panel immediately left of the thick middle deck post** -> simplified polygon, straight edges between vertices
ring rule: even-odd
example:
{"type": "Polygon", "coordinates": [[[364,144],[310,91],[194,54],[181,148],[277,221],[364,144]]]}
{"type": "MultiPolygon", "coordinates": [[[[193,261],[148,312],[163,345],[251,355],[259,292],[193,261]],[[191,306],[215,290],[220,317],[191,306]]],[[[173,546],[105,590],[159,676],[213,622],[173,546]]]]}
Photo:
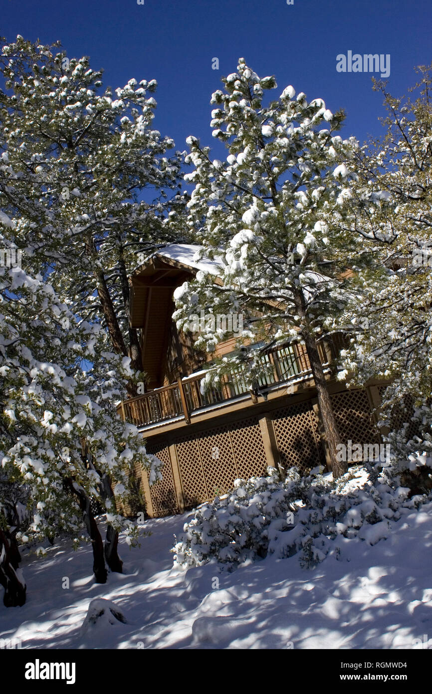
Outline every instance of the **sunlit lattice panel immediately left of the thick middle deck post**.
{"type": "Polygon", "coordinates": [[[237,476],[242,480],[266,474],[267,460],[257,419],[243,419],[230,429],[237,476]]]}

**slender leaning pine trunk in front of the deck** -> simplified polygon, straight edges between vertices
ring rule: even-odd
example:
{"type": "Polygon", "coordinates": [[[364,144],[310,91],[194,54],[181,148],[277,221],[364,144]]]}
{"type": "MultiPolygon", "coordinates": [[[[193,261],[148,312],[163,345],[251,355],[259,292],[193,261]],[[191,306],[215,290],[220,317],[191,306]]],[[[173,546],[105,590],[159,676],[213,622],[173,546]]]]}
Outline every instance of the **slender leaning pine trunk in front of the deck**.
{"type": "Polygon", "coordinates": [[[304,339],[304,344],[306,345],[306,352],[309,357],[309,363],[311,364],[313,380],[316,384],[318,406],[320,408],[322,424],[324,425],[327,446],[329,447],[331,471],[335,478],[342,477],[347,471],[347,465],[337,459],[337,446],[341,443],[340,434],[336,423],[336,417],[334,416],[333,406],[331,405],[324,369],[322,369],[318,345],[306,315],[306,304],[302,291],[298,291],[295,294],[294,301],[297,314],[299,314],[302,319],[302,330],[300,331],[300,335],[304,339]]]}

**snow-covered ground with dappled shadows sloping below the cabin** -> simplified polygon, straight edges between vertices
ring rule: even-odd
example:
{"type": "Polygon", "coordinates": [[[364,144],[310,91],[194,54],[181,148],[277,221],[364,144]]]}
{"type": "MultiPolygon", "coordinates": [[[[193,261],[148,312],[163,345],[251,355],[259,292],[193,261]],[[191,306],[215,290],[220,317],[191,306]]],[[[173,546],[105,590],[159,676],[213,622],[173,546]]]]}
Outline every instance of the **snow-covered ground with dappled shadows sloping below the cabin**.
{"type": "Polygon", "coordinates": [[[141,548],[122,539],[125,573],[105,585],[94,583],[88,545],[24,557],[28,600],[1,604],[0,638],[20,638],[21,648],[278,649],[427,648],[430,638],[432,648],[432,504],[375,545],[343,541],[339,558],[331,552],[313,570],[274,555],[232,573],[173,568],[173,534],[189,516],[148,521],[141,548]],[[126,623],[108,613],[83,628],[95,598],[126,623]]]}

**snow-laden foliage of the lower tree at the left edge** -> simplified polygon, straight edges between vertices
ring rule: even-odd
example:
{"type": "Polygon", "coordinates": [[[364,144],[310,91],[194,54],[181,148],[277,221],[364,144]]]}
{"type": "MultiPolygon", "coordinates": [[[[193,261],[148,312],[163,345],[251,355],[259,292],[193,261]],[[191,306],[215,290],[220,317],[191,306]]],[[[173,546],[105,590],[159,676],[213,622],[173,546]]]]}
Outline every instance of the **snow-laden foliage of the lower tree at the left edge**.
{"type": "Polygon", "coordinates": [[[132,464],[155,481],[160,463],[116,415],[130,359],[104,344],[101,325],[78,322],[42,276],[0,267],[0,523],[7,525],[12,507],[21,509],[22,543],[59,532],[79,541],[82,514],[68,480],[100,500],[112,527],[126,523],[131,541],[137,534],[101,496],[102,477],[116,480],[121,498],[132,464]],[[92,369],[85,371],[86,362],[92,369]]]}

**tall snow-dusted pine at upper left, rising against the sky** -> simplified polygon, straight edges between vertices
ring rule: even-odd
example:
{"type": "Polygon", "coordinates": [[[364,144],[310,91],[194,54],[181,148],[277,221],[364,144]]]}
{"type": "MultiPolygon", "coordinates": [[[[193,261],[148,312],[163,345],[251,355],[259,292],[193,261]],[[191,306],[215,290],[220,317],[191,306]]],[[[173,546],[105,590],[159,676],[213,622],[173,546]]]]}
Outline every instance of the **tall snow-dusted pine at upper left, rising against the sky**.
{"type": "MultiPolygon", "coordinates": [[[[137,253],[173,238],[180,155],[167,157],[173,140],[152,128],[155,80],[130,79],[113,94],[88,58],[58,46],[18,36],[1,51],[1,208],[60,299],[101,320],[107,345],[141,371],[128,273],[137,253]]],[[[128,392],[137,394],[133,382],[128,392]]]]}

